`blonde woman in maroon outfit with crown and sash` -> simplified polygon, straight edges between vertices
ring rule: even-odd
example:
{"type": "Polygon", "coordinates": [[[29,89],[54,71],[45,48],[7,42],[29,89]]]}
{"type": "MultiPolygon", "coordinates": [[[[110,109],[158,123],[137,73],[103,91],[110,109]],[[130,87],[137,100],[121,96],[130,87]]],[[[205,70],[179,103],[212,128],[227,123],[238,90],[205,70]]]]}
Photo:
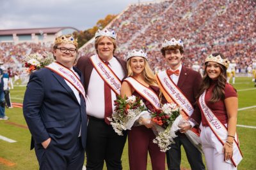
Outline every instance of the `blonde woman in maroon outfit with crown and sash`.
{"type": "MultiPolygon", "coordinates": [[[[154,73],[148,66],[147,53],[142,50],[128,53],[127,71],[128,77],[122,83],[121,96],[140,97],[148,110],[159,108],[159,88],[157,87],[154,73]]],[[[131,170],[147,169],[148,152],[153,170],[165,169],[165,153],[160,152],[159,147],[153,143],[156,138],[152,131],[153,124],[150,118],[139,119],[139,126],[133,126],[128,132],[129,165],[131,170]]]]}

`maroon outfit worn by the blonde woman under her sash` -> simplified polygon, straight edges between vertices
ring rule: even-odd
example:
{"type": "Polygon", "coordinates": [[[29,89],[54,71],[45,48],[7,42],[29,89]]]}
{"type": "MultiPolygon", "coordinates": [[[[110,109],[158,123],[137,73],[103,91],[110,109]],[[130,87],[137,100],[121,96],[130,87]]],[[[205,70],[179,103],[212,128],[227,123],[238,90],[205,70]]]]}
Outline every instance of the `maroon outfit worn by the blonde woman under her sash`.
{"type": "MultiPolygon", "coordinates": [[[[150,89],[159,94],[159,88],[150,85],[150,89]]],[[[144,99],[136,91],[134,96],[140,97],[149,110],[153,110],[154,106],[144,99]]],[[[128,131],[128,150],[129,150],[129,166],[131,170],[146,170],[148,152],[151,159],[153,170],[165,169],[165,153],[160,151],[153,139],[156,138],[152,129],[148,129],[145,125],[133,126],[128,131]]]]}

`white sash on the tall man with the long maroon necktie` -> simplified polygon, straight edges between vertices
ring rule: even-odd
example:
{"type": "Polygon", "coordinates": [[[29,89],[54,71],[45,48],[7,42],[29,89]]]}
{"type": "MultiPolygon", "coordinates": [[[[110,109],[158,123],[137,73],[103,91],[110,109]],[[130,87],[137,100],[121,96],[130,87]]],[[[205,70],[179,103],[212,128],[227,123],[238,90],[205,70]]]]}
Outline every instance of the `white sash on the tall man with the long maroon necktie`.
{"type": "Polygon", "coordinates": [[[98,55],[93,55],[90,57],[90,60],[102,80],[108,83],[109,87],[115,92],[116,95],[120,95],[121,80],[118,78],[118,76],[116,76],[112,69],[107,66],[98,55]]]}

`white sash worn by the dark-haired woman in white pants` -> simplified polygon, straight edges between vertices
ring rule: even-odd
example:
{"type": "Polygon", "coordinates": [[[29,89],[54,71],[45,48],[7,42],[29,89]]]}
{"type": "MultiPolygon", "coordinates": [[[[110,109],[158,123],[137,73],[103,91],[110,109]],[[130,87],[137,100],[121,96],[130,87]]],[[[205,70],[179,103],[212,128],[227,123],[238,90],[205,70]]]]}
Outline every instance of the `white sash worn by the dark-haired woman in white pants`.
{"type": "MultiPolygon", "coordinates": [[[[214,113],[211,111],[211,109],[206,105],[205,103],[205,92],[199,97],[199,106],[202,113],[204,113],[204,117],[207,120],[207,124],[211,128],[212,132],[214,132],[216,138],[220,142],[217,143],[217,149],[222,150],[223,145],[227,141],[227,127],[223,125],[220,120],[214,115],[214,113]]],[[[226,160],[226,162],[233,164],[235,167],[241,162],[243,159],[243,155],[241,153],[241,150],[239,148],[239,140],[237,135],[235,135],[234,139],[234,145],[233,145],[233,155],[230,160],[226,160]]]]}

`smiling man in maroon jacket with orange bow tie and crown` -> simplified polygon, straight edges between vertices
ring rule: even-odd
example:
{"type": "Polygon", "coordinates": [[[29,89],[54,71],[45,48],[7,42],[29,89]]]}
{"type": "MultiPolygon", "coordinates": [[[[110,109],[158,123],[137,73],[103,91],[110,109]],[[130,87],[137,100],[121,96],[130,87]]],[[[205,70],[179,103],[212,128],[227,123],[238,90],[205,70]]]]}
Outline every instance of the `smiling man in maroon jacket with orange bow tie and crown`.
{"type": "MultiPolygon", "coordinates": [[[[202,77],[198,72],[182,66],[184,49],[183,42],[180,39],[172,38],[170,41],[165,40],[161,53],[169,69],[157,74],[156,78],[159,87],[166,101],[174,102],[181,106],[182,117],[189,120],[189,116],[194,111],[199,111],[195,106],[195,97],[199,92],[198,88],[202,77]]],[[[168,169],[180,169],[181,145],[184,147],[191,169],[205,169],[202,154],[182,132],[184,132],[182,129],[176,132],[175,144],[172,144],[170,150],[166,152],[168,169]]]]}

